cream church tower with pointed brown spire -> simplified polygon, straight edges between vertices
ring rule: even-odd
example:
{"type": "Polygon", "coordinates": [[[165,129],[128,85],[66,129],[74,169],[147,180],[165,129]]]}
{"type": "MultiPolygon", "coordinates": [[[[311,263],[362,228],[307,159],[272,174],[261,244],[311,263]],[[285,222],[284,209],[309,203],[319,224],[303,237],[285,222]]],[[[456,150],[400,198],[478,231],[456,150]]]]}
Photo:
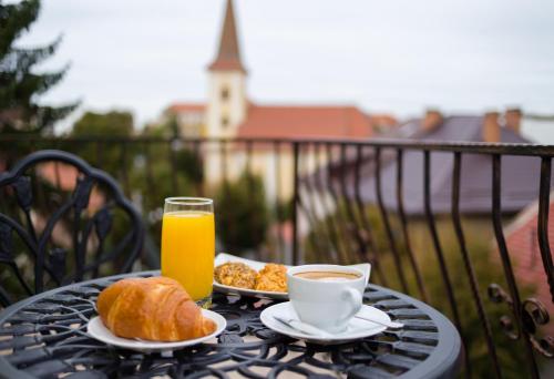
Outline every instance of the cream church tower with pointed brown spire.
{"type": "Polygon", "coordinates": [[[208,66],[207,136],[236,136],[247,107],[246,70],[240,61],[233,1],[227,0],[219,49],[208,66]]]}

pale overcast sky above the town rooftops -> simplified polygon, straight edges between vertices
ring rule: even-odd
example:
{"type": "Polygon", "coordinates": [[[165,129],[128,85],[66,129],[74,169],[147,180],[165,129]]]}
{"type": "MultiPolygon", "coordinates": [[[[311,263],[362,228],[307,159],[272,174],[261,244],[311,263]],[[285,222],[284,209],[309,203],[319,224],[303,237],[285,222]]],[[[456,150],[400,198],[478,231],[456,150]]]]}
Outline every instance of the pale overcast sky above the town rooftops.
{"type": "MultiPolygon", "coordinates": [[[[71,68],[44,103],[132,111],[204,101],[224,0],[43,0],[20,45],[63,35],[40,70],[71,68]]],[[[248,95],[265,104],[356,104],[400,119],[554,114],[554,1],[235,0],[248,95]]],[[[554,126],[537,129],[554,143],[554,126]]]]}

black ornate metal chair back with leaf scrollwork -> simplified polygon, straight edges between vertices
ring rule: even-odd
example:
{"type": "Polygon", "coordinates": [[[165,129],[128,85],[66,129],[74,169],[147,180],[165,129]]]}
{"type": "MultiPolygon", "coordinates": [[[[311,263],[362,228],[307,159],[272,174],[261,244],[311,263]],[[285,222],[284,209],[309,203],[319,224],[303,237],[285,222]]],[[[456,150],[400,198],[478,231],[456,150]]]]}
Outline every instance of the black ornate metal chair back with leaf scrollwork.
{"type": "Polygon", "coordinates": [[[141,215],[114,178],[73,154],[39,151],[0,173],[3,306],[84,278],[129,273],[143,239],[141,215]],[[96,209],[90,207],[91,194],[101,198],[96,209]],[[123,229],[114,223],[120,217],[126,218],[123,225],[129,223],[123,229]]]}

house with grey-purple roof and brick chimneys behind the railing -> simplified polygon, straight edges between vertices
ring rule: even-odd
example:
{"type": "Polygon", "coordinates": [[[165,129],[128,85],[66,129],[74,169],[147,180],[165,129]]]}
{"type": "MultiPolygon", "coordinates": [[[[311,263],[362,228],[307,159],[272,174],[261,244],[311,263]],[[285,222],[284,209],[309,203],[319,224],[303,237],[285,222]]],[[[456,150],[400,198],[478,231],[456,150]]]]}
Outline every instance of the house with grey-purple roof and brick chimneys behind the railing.
{"type": "MultiPolygon", "coordinates": [[[[480,115],[442,116],[437,111],[428,112],[421,120],[412,120],[394,130],[388,137],[427,142],[503,142],[530,143],[520,134],[521,112],[509,110],[502,117],[499,113],[480,115]],[[503,120],[504,125],[501,125],[503,120]]],[[[431,205],[433,213],[451,212],[453,154],[431,153],[431,205]]],[[[381,188],[383,203],[397,209],[396,153],[383,151],[381,188]]],[[[366,203],[377,203],[375,160],[366,157],[362,166],[360,194],[366,203]]],[[[540,157],[503,156],[501,201],[504,213],[517,213],[533,202],[538,194],[541,172],[540,157]]],[[[337,175],[338,176],[338,175],[337,175]]],[[[465,214],[489,214],[492,208],[492,160],[480,154],[462,154],[460,209],[465,214]]],[[[350,175],[350,181],[352,181],[350,175]]],[[[403,153],[403,201],[410,215],[424,214],[423,153],[407,150],[403,153]]],[[[353,186],[348,186],[353,196],[353,186]]]]}

